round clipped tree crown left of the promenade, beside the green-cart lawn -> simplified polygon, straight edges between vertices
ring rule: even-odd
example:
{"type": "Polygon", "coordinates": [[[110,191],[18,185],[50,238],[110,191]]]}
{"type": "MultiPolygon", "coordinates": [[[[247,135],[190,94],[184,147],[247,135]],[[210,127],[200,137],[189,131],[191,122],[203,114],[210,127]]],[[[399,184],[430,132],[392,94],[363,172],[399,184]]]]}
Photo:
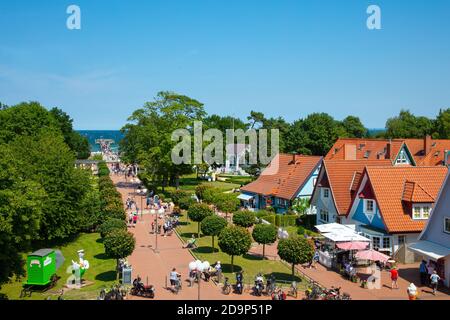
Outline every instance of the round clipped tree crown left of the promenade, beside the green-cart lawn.
{"type": "Polygon", "coordinates": [[[115,229],[106,235],[103,244],[105,245],[105,253],[110,258],[123,259],[133,253],[136,240],[130,232],[115,229]]]}

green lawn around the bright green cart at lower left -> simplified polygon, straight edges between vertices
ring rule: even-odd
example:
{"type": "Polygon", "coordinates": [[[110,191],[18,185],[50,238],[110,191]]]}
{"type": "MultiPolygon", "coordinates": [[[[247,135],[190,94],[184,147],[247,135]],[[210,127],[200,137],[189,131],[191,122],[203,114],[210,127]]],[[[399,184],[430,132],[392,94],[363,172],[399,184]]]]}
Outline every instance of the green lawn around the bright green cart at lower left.
{"type": "MultiPolygon", "coordinates": [[[[64,294],[64,299],[96,299],[101,288],[110,287],[112,284],[116,283],[116,261],[115,259],[109,259],[106,257],[104,247],[98,233],[81,234],[74,241],[57,249],[61,250],[65,258],[64,264],[59,270],[57,270],[58,276],[61,277],[58,284],[45,293],[33,292],[31,298],[25,299],[57,299],[58,291],[64,286],[67,278],[70,276],[70,274],[66,273],[67,268],[71,265],[72,260],[78,260],[77,251],[80,249],[85,250],[85,259],[88,260],[90,264],[90,267],[84,274],[83,279],[93,282],[93,284],[80,290],[66,291],[64,294]]],[[[11,300],[19,299],[23,281],[25,281],[25,279],[20,281],[12,281],[11,283],[3,285],[0,293],[6,294],[11,300]]]]}

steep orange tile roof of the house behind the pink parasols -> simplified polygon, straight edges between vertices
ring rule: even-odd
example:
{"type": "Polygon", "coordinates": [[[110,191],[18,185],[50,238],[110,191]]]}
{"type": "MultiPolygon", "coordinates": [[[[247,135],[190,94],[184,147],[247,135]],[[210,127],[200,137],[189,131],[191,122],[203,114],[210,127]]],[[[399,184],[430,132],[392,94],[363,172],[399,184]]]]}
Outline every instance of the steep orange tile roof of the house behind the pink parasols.
{"type": "Polygon", "coordinates": [[[435,199],[447,171],[444,166],[365,168],[388,232],[422,231],[426,220],[413,220],[405,199],[413,202],[435,199]]]}

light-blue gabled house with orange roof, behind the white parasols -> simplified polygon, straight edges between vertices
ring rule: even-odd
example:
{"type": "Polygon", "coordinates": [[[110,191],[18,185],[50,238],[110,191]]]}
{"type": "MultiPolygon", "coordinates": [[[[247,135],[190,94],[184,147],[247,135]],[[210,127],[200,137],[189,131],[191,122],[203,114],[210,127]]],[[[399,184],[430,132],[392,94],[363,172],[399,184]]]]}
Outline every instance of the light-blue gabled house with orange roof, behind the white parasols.
{"type": "Polygon", "coordinates": [[[345,223],[364,168],[370,165],[392,166],[392,162],[386,159],[323,160],[311,197],[317,224],[345,223]]]}

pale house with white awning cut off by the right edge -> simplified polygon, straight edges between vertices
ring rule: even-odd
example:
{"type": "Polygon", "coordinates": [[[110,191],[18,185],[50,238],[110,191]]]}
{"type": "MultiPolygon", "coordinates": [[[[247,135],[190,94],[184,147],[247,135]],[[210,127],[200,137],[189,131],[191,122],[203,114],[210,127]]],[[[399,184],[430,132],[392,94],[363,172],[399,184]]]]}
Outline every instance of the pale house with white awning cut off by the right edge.
{"type": "Polygon", "coordinates": [[[434,266],[445,286],[450,287],[450,174],[437,197],[436,203],[419,241],[409,248],[427,264],[434,266]]]}

